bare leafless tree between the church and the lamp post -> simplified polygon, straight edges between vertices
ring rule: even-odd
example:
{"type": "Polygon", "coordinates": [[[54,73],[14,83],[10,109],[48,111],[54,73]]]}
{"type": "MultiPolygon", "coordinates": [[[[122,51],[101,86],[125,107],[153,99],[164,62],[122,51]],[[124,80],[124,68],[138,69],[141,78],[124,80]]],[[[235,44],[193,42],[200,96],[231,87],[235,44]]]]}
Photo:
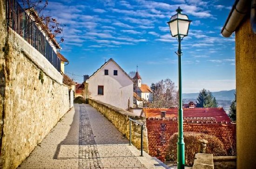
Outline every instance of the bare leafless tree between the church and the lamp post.
{"type": "Polygon", "coordinates": [[[170,79],[161,80],[155,83],[153,91],[153,102],[150,107],[177,107],[178,91],[175,83],[170,79]]]}

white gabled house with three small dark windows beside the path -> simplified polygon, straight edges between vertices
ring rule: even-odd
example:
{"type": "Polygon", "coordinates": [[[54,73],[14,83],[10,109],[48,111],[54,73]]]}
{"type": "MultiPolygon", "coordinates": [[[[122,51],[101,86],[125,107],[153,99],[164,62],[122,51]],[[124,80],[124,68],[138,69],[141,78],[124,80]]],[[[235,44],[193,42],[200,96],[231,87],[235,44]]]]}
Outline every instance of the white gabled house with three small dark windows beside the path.
{"type": "Polygon", "coordinates": [[[133,106],[133,81],[111,58],[88,78],[88,97],[127,110],[133,106]]]}

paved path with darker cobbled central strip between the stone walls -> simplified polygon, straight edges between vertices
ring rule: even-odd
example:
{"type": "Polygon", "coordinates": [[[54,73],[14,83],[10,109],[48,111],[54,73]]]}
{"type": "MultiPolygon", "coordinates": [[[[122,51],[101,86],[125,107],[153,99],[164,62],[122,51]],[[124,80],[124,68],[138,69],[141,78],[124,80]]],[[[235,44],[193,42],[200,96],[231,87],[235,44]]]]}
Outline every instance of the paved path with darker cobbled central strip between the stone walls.
{"type": "Polygon", "coordinates": [[[164,169],[93,107],[75,104],[18,169],[164,169]]]}

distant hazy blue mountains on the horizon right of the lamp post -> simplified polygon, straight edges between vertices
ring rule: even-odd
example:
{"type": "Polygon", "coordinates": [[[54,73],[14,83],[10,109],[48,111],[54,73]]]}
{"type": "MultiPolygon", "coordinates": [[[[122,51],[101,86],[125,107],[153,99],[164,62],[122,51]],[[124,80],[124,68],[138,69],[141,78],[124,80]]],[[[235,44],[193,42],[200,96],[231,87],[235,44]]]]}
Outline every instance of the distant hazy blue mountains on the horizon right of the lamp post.
{"type": "MultiPolygon", "coordinates": [[[[235,89],[233,90],[223,90],[219,92],[212,92],[212,95],[216,98],[216,100],[234,100],[235,99],[235,89]]],[[[190,94],[182,94],[183,99],[196,99],[199,93],[190,93],[190,94]]]]}

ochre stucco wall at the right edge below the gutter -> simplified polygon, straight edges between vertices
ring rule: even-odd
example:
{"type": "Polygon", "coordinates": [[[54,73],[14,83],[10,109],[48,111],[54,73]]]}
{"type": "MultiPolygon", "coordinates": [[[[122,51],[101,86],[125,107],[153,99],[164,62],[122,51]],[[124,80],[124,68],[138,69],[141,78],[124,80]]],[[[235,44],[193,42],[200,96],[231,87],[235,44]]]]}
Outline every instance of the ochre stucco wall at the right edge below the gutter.
{"type": "Polygon", "coordinates": [[[256,34],[249,18],[236,31],[237,169],[256,166],[256,34]]]}

